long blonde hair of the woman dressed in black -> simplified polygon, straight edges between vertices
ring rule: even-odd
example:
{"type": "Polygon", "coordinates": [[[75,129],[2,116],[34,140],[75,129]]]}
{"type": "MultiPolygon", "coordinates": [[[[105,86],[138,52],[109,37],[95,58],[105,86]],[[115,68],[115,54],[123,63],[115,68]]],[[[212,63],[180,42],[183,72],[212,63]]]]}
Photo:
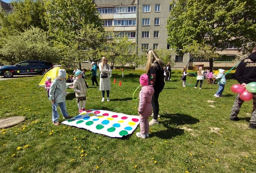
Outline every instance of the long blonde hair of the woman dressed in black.
{"type": "Polygon", "coordinates": [[[163,60],[161,60],[157,54],[155,53],[155,50],[149,50],[148,51],[148,61],[146,63],[146,72],[148,73],[149,69],[151,66],[155,66],[156,67],[156,63],[158,63],[160,65],[160,67],[163,69],[163,60]]]}

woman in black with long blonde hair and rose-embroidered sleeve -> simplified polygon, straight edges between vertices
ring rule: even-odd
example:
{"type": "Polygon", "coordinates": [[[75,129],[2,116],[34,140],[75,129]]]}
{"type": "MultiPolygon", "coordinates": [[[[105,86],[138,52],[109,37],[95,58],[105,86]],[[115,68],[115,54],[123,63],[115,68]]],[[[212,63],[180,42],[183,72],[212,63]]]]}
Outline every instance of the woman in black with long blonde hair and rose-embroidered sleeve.
{"type": "Polygon", "coordinates": [[[159,113],[158,97],[164,87],[164,75],[163,75],[163,60],[161,60],[154,50],[150,49],[147,52],[148,61],[146,64],[146,72],[148,74],[148,85],[153,85],[155,90],[152,97],[153,107],[153,119],[149,122],[149,125],[158,124],[157,116],[159,113]]]}

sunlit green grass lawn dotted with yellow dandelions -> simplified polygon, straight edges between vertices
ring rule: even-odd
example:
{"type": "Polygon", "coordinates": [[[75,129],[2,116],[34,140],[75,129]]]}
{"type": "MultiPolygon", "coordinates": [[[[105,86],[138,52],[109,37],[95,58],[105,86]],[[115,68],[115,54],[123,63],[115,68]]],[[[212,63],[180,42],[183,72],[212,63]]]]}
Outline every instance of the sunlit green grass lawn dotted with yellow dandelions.
{"type": "MultiPolygon", "coordinates": [[[[129,72],[124,78],[113,72],[110,102],[101,102],[101,92],[89,88],[86,108],[137,115],[138,100],[132,94],[143,71],[129,72]]],[[[205,84],[202,90],[182,87],[181,74],[172,74],[172,81],[165,84],[159,97],[159,125],[150,126],[150,138],[145,140],[135,134],[139,126],[124,138],[55,126],[46,91],[37,87],[40,76],[0,81],[0,118],[26,117],[19,125],[0,129],[0,172],[255,173],[256,130],[248,128],[252,101],[242,105],[240,121],[230,121],[236,96],[230,87],[235,80],[228,79],[224,97],[216,98],[217,84],[205,84]]],[[[74,94],[67,95],[66,104],[71,116],[79,114],[74,94]]]]}

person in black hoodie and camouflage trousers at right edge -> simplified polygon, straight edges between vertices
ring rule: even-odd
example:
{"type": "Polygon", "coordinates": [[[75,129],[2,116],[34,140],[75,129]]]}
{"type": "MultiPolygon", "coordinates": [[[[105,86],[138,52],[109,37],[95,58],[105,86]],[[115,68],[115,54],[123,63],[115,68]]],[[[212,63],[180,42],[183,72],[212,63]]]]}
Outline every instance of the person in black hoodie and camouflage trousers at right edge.
{"type": "MultiPolygon", "coordinates": [[[[246,87],[247,84],[251,82],[256,82],[256,47],[252,49],[252,53],[244,58],[236,68],[235,72],[236,80],[246,87]]],[[[253,94],[253,108],[252,108],[252,116],[249,124],[249,128],[256,129],[256,93],[253,94]]],[[[239,117],[237,117],[240,108],[243,104],[243,100],[240,99],[240,93],[237,94],[234,105],[231,108],[230,120],[238,121],[239,117]]]]}

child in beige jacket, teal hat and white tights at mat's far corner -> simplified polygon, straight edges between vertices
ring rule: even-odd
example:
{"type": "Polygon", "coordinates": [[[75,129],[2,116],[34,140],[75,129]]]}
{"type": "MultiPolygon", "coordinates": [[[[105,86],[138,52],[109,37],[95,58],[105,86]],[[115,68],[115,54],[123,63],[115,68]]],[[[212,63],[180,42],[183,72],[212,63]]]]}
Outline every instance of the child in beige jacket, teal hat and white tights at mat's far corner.
{"type": "Polygon", "coordinates": [[[76,79],[74,79],[73,83],[73,89],[76,93],[76,102],[77,106],[79,108],[79,113],[84,112],[85,109],[85,101],[86,101],[86,93],[87,93],[87,87],[85,84],[85,80],[82,79],[82,71],[76,71],[75,75],[77,76],[76,79]],[[82,101],[82,108],[81,108],[81,101],[82,101]]]}

